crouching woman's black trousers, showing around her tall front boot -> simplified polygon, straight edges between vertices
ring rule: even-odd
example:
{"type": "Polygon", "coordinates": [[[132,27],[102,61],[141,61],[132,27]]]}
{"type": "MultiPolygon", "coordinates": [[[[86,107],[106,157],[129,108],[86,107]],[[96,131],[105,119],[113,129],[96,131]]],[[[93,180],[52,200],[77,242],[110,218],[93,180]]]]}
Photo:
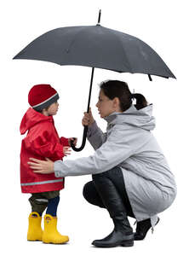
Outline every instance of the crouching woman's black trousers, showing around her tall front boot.
{"type": "Polygon", "coordinates": [[[84,198],[87,201],[89,201],[90,204],[93,204],[94,206],[106,208],[103,201],[100,198],[100,195],[99,195],[97,189],[95,188],[94,180],[97,175],[100,176],[100,178],[106,178],[106,179],[111,180],[112,184],[117,189],[117,192],[123,201],[126,215],[129,217],[135,218],[135,215],[133,213],[132,207],[129,202],[129,197],[128,197],[126,189],[125,189],[123,173],[122,173],[121,168],[119,168],[119,167],[114,167],[109,171],[102,172],[99,174],[94,174],[92,176],[93,180],[90,181],[89,183],[86,183],[83,187],[84,198]]]}

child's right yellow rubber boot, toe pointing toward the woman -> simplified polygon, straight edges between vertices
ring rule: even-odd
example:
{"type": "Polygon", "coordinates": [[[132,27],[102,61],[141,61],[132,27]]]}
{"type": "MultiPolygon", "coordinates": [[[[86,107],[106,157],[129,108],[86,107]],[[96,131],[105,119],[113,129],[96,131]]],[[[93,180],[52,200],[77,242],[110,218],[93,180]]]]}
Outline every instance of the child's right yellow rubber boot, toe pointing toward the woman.
{"type": "Polygon", "coordinates": [[[68,236],[60,235],[57,230],[57,218],[46,214],[44,216],[44,231],[42,241],[45,243],[65,243],[69,241],[68,236]]]}

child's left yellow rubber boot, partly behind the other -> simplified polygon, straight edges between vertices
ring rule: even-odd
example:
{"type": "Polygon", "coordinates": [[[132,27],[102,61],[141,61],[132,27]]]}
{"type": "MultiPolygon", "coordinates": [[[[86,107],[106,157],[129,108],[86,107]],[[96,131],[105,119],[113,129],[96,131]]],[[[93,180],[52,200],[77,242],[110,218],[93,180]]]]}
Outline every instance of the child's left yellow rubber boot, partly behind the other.
{"type": "Polygon", "coordinates": [[[29,226],[27,230],[28,241],[42,241],[43,230],[41,227],[42,218],[38,212],[31,212],[29,215],[29,226]]]}

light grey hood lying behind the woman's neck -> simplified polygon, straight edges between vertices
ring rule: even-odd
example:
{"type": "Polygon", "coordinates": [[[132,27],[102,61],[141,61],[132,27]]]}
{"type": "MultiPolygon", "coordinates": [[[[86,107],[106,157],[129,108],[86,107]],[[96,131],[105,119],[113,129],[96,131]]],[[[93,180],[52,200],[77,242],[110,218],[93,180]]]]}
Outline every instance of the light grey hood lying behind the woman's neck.
{"type": "Polygon", "coordinates": [[[152,104],[146,108],[137,110],[134,105],[123,113],[114,112],[107,116],[108,125],[127,124],[140,127],[146,131],[152,131],[155,128],[155,118],[152,116],[152,104]]]}

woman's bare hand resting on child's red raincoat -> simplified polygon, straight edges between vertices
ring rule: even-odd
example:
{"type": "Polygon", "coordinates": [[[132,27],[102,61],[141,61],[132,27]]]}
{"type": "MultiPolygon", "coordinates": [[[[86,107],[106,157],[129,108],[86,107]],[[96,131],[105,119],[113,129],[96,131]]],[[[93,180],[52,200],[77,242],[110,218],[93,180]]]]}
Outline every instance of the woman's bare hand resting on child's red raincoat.
{"type": "Polygon", "coordinates": [[[36,170],[33,172],[40,174],[49,174],[54,172],[54,162],[49,160],[49,158],[45,158],[44,160],[38,160],[35,158],[30,158],[32,162],[27,162],[27,164],[31,167],[31,169],[36,170]]]}

